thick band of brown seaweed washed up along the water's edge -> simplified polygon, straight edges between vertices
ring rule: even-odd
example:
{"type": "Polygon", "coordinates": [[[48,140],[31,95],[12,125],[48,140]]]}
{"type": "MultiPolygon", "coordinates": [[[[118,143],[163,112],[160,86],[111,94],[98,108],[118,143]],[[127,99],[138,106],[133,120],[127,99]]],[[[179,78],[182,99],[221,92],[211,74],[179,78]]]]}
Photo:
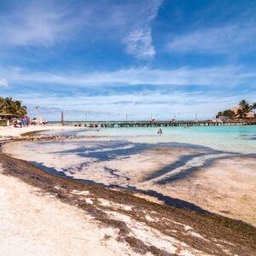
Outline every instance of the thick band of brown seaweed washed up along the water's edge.
{"type": "Polygon", "coordinates": [[[252,255],[255,250],[253,241],[256,229],[241,221],[210,212],[202,213],[180,207],[156,205],[127,191],[114,191],[77,183],[56,177],[25,160],[17,160],[5,154],[0,154],[0,163],[3,175],[18,177],[22,182],[40,189],[43,195],[52,195],[61,202],[79,207],[96,221],[118,229],[118,241],[128,243],[137,253],[168,255],[160,248],[148,246],[143,240],[131,236],[132,229],[125,224],[126,217],[146,224],[164,236],[171,236],[185,243],[192,251],[229,255],[225,253],[225,250],[228,250],[232,254],[252,255]],[[113,216],[123,215],[123,220],[110,218],[109,212],[115,212],[113,216]],[[162,221],[163,218],[166,220],[162,221]],[[186,230],[184,225],[190,228],[186,230]]]}

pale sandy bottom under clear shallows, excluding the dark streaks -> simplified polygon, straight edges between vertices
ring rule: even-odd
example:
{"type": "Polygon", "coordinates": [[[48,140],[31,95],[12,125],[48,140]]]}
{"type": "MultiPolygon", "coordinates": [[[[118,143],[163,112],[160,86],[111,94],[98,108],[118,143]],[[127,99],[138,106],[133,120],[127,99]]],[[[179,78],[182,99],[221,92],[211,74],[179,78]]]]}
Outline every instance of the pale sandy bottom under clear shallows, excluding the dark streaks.
{"type": "MultiPolygon", "coordinates": [[[[196,160],[192,160],[191,165],[195,161],[194,165],[201,167],[200,172],[160,185],[154,181],[172,175],[173,171],[146,182],[143,181],[143,177],[178,160],[180,156],[178,152],[162,154],[154,150],[146,150],[113,160],[95,160],[79,154],[67,153],[71,149],[75,152],[81,144],[88,147],[88,140],[82,142],[64,141],[63,143],[43,143],[43,145],[9,143],[3,146],[3,152],[23,160],[36,161],[49,168],[55,168],[56,171],[64,170],[70,177],[89,179],[107,185],[117,184],[124,187],[131,185],[136,186],[137,189],[153,189],[160,194],[194,203],[210,212],[217,212],[256,225],[254,214],[256,211],[256,160],[253,158],[233,157],[215,160],[212,166],[202,166],[201,162],[199,165],[196,160]],[[107,172],[105,167],[114,170],[114,173],[107,172]],[[78,169],[79,172],[77,172],[78,169]]],[[[182,154],[186,153],[182,152],[182,154]]]]}

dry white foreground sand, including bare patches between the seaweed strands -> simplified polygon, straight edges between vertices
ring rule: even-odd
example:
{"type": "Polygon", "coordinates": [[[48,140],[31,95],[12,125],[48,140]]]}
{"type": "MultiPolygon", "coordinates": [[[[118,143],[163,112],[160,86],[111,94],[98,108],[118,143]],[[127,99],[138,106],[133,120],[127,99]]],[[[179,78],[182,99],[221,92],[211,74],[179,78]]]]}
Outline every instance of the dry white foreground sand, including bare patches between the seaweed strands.
{"type": "MultiPolygon", "coordinates": [[[[58,201],[53,195],[42,195],[40,190],[20,182],[16,177],[5,176],[2,171],[0,166],[1,256],[140,255],[125,242],[116,240],[118,230],[102,227],[82,210],[58,201]]],[[[84,195],[88,193],[84,191],[84,195]]],[[[159,230],[116,211],[131,211],[131,207],[103,199],[99,201],[113,208],[112,211],[106,211],[110,218],[124,221],[131,229],[131,236],[137,237],[146,245],[177,255],[206,255],[177,238],[166,236],[159,230]]],[[[154,218],[148,218],[154,221],[154,218]]]]}

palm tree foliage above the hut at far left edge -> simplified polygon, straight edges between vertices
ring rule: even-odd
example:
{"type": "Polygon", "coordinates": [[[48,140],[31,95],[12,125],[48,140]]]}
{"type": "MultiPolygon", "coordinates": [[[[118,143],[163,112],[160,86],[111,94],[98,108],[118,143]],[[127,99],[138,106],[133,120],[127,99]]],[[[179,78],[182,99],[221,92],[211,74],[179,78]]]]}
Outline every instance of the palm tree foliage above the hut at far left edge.
{"type": "Polygon", "coordinates": [[[0,113],[12,113],[23,118],[26,115],[26,106],[22,106],[21,101],[15,101],[12,97],[0,96],[0,113]]]}

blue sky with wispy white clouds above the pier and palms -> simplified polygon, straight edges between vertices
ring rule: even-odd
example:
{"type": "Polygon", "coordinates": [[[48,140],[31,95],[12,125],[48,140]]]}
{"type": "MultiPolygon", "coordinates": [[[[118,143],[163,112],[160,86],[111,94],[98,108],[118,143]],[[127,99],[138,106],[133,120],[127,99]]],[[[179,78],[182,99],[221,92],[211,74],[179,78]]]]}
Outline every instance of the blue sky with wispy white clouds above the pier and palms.
{"type": "Polygon", "coordinates": [[[48,120],[211,119],[256,102],[256,1],[0,0],[0,96],[48,120]]]}

